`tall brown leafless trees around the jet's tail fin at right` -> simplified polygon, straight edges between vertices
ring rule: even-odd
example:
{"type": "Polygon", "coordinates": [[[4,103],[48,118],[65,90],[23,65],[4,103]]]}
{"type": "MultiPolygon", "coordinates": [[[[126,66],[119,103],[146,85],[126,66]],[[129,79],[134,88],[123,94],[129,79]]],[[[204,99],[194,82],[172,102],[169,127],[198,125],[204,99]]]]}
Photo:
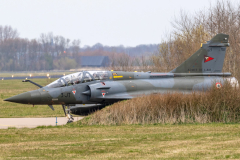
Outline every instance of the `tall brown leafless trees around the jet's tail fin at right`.
{"type": "Polygon", "coordinates": [[[201,43],[205,43],[217,33],[225,33],[230,36],[230,47],[227,49],[223,71],[231,72],[240,78],[238,3],[218,0],[215,5],[210,4],[207,10],[200,10],[192,15],[181,11],[173,20],[172,26],[174,30],[159,46],[158,54],[152,57],[155,67],[173,69],[196,52],[201,43]]]}

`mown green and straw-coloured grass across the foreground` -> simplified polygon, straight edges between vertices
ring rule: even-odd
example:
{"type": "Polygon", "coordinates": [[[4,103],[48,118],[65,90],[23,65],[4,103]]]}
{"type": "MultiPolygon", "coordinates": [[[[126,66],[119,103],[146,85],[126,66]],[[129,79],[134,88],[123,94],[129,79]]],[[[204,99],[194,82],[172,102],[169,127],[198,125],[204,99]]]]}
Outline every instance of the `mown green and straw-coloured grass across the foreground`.
{"type": "Polygon", "coordinates": [[[238,124],[0,130],[4,159],[239,159],[238,124]]]}

